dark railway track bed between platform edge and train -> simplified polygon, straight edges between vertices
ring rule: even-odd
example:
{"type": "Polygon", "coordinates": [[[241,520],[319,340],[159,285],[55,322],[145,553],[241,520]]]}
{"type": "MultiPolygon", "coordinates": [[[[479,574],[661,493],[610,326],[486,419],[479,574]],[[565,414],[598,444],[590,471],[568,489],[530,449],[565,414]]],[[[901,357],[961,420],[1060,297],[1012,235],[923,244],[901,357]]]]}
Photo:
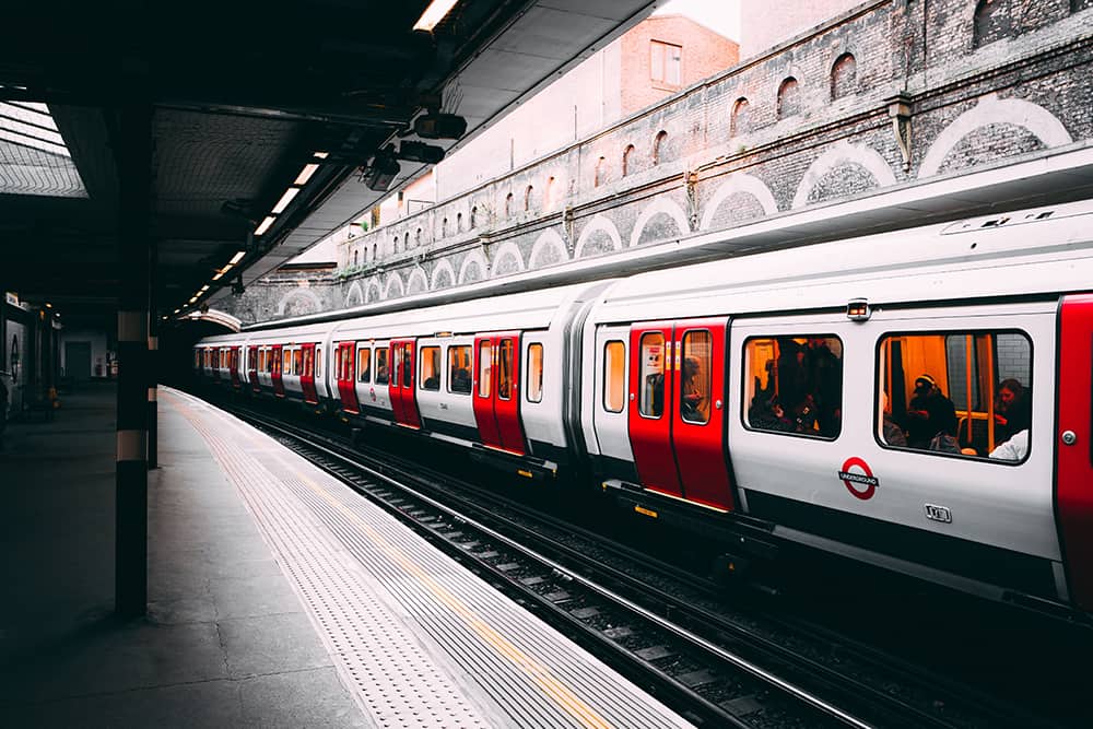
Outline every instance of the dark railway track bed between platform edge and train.
{"type": "Polygon", "coordinates": [[[496,491],[235,411],[696,724],[1050,726],[807,621],[741,619],[712,581],[496,491]]]}

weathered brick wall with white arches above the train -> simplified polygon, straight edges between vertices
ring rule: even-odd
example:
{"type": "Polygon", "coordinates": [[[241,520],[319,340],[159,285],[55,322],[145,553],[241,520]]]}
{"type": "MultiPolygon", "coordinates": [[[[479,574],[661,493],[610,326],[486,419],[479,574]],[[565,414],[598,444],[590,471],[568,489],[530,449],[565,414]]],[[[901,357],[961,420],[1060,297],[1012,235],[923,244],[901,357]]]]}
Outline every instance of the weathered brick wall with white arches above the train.
{"type": "MultiPolygon", "coordinates": [[[[543,269],[1093,139],[1089,3],[991,4],[991,13],[1006,13],[1009,31],[978,39],[975,2],[857,5],[665,103],[346,243],[342,260],[352,249],[362,263],[343,269],[343,293],[325,301],[367,303],[543,269]],[[842,73],[848,54],[853,78],[838,78],[833,98],[836,61],[842,73]],[[798,82],[799,106],[779,119],[787,78],[798,82]],[[897,94],[910,106],[909,158],[889,117],[897,94]],[[733,129],[740,99],[748,124],[733,129]]],[[[262,310],[275,316],[273,304],[262,310]]]]}

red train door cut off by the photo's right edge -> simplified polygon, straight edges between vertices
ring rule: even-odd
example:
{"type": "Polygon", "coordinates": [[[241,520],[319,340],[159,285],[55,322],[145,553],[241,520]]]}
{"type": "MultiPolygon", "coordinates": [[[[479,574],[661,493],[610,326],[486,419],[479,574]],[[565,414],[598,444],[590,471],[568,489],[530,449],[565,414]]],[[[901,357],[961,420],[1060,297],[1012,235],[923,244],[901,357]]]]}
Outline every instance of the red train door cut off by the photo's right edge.
{"type": "Polygon", "coordinates": [[[1055,504],[1070,597],[1089,611],[1093,610],[1093,295],[1067,296],[1060,317],[1055,504]]]}

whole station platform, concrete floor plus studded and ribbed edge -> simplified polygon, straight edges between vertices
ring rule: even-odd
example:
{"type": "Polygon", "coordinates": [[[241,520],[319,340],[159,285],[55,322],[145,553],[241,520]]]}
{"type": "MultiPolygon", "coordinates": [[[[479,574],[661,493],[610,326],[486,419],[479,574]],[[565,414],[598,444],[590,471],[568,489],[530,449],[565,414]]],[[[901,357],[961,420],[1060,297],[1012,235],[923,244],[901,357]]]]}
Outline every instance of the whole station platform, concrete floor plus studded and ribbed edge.
{"type": "Polygon", "coordinates": [[[149,611],[113,615],[115,393],[0,451],[8,726],[681,727],[272,438],[161,390],[149,611]]]}

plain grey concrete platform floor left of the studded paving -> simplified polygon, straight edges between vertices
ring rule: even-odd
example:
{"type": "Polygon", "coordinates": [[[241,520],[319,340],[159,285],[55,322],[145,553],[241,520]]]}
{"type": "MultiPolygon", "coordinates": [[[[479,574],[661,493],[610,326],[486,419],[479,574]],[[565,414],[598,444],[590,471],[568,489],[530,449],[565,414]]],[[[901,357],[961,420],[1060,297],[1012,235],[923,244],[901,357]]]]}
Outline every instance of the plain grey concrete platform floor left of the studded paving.
{"type": "Polygon", "coordinates": [[[368,719],[238,492],[164,409],[149,614],[114,618],[115,390],[14,423],[0,450],[0,724],[356,727],[368,719]]]}

